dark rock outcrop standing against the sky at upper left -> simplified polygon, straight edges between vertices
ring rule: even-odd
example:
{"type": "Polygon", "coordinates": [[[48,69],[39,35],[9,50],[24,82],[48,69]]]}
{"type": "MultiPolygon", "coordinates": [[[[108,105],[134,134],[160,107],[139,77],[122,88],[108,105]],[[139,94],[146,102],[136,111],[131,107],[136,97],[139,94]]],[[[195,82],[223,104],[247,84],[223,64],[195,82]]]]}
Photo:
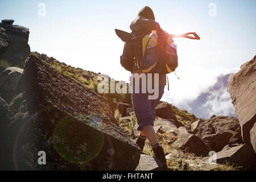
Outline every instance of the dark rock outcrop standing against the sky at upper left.
{"type": "Polygon", "coordinates": [[[30,54],[30,46],[28,45],[30,32],[28,28],[13,25],[10,20],[0,23],[0,27],[4,28],[6,30],[5,34],[11,38],[9,45],[4,49],[5,53],[2,54],[0,49],[0,56],[2,55],[2,59],[7,60],[11,66],[23,68],[23,62],[30,54]]]}

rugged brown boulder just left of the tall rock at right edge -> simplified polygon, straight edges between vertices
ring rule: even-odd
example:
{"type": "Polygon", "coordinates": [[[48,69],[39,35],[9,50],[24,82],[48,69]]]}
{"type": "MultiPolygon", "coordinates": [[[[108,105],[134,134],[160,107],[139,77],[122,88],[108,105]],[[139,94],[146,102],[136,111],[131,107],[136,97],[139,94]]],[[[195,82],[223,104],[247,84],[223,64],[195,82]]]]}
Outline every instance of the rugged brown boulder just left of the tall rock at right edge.
{"type": "MultiPolygon", "coordinates": [[[[221,151],[229,144],[230,138],[236,134],[240,127],[239,121],[234,117],[217,116],[202,122],[199,125],[198,135],[213,151],[221,151]]],[[[240,135],[238,133],[237,135],[240,135]]]]}

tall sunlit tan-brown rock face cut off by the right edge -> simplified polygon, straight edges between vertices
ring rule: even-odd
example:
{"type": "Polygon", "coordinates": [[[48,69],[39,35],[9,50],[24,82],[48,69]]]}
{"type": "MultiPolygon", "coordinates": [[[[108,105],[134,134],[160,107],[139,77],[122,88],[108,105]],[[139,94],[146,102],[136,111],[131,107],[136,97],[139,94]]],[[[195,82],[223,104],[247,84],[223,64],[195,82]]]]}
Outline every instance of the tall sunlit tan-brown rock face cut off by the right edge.
{"type": "MultiPolygon", "coordinates": [[[[230,78],[228,92],[239,118],[243,142],[251,146],[250,130],[256,122],[256,56],[241,65],[238,73],[230,78]]],[[[254,148],[256,152],[256,148],[254,148]]]]}

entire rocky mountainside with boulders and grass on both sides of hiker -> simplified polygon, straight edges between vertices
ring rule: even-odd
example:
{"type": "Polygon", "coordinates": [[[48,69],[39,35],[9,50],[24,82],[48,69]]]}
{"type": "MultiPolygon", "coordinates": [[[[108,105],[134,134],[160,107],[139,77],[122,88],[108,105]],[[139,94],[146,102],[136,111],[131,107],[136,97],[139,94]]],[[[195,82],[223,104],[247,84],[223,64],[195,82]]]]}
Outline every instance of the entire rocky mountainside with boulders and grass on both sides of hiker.
{"type": "MultiPolygon", "coordinates": [[[[130,94],[98,94],[99,73],[28,55],[28,35],[11,20],[0,24],[1,169],[162,169],[148,140],[143,151],[134,143],[130,94]],[[39,165],[39,151],[47,165],[39,165]]],[[[168,170],[256,169],[255,65],[256,56],[229,82],[238,119],[205,120],[167,102],[156,106],[154,129],[168,170]]]]}

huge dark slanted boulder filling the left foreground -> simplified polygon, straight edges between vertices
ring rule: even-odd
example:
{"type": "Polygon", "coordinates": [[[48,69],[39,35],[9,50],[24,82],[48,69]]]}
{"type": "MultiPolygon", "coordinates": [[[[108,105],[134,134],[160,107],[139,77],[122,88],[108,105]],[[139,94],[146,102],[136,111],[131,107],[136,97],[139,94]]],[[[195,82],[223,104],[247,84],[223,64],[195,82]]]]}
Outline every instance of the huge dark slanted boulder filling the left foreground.
{"type": "MultiPolygon", "coordinates": [[[[10,104],[15,167],[44,170],[133,170],[140,150],[104,97],[31,54],[10,104]],[[14,140],[16,138],[16,140],[14,140]],[[18,140],[17,140],[18,139],[18,140]],[[46,165],[38,152],[46,152],[46,165]]],[[[11,152],[10,152],[11,153],[11,152]]]]}

